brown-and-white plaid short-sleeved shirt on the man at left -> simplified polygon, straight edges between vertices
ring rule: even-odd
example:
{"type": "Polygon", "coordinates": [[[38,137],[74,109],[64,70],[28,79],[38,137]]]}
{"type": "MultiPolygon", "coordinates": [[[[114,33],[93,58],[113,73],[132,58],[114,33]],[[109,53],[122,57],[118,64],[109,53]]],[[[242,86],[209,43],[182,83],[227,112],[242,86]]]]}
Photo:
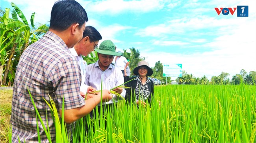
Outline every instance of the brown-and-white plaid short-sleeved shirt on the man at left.
{"type": "MultiPolygon", "coordinates": [[[[47,116],[51,140],[55,142],[55,126],[45,100],[50,103],[48,96],[50,95],[57,110],[62,109],[63,97],[65,97],[65,110],[85,105],[80,96],[81,74],[79,73],[78,62],[56,34],[48,31],[40,40],[28,46],[20,57],[13,84],[11,113],[13,143],[18,142],[18,137],[21,142],[38,142],[37,123],[41,142],[48,142],[39,119],[36,122],[36,112],[28,89],[46,128],[47,116]]],[[[73,125],[74,123],[67,124],[67,129],[71,130],[73,125]]]]}

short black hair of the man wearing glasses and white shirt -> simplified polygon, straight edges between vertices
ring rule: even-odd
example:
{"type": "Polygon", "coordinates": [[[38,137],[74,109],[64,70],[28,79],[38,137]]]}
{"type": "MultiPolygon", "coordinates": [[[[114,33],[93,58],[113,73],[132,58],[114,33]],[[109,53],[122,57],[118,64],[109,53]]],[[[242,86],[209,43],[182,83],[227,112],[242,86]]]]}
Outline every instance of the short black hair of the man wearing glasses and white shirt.
{"type": "Polygon", "coordinates": [[[85,27],[85,31],[83,31],[83,38],[85,38],[86,36],[89,36],[90,42],[95,42],[102,39],[102,36],[97,31],[97,29],[92,26],[85,27]]]}

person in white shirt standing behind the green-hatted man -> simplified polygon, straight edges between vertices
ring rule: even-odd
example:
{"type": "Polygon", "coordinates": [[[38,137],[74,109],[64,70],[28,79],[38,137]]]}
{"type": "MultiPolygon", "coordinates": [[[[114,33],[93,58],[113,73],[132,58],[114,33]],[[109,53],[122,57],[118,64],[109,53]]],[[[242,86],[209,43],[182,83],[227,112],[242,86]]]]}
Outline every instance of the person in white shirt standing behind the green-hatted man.
{"type": "Polygon", "coordinates": [[[126,60],[124,56],[122,56],[121,51],[118,51],[118,52],[121,53],[121,55],[115,57],[115,67],[117,67],[122,71],[122,74],[124,76],[124,81],[126,81],[128,78],[126,73],[126,67],[129,65],[129,62],[126,60]]]}

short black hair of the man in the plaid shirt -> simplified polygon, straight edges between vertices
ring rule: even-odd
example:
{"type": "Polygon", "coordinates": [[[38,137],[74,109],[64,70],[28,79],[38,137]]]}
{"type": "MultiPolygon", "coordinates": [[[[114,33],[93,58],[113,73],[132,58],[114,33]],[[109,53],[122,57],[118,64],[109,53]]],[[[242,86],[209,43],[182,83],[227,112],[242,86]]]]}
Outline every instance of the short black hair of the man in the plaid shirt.
{"type": "Polygon", "coordinates": [[[88,22],[85,9],[75,0],[59,0],[51,11],[50,29],[64,31],[74,23],[82,25],[88,22]]]}

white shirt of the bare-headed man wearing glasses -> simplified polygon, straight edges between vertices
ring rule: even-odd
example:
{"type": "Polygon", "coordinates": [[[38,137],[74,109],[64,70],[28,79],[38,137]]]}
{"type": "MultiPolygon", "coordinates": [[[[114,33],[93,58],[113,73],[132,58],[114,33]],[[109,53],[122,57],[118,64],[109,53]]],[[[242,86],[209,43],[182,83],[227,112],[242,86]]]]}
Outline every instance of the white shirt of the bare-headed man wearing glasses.
{"type": "Polygon", "coordinates": [[[76,59],[78,60],[79,66],[80,66],[80,70],[81,70],[81,74],[82,74],[82,83],[80,86],[80,91],[82,91],[83,93],[87,92],[87,88],[89,87],[88,85],[85,85],[84,81],[85,81],[85,67],[87,66],[87,63],[83,60],[82,55],[80,54],[78,56],[78,54],[76,53],[76,50],[74,48],[70,48],[69,49],[71,54],[74,55],[76,57],[76,59]]]}

